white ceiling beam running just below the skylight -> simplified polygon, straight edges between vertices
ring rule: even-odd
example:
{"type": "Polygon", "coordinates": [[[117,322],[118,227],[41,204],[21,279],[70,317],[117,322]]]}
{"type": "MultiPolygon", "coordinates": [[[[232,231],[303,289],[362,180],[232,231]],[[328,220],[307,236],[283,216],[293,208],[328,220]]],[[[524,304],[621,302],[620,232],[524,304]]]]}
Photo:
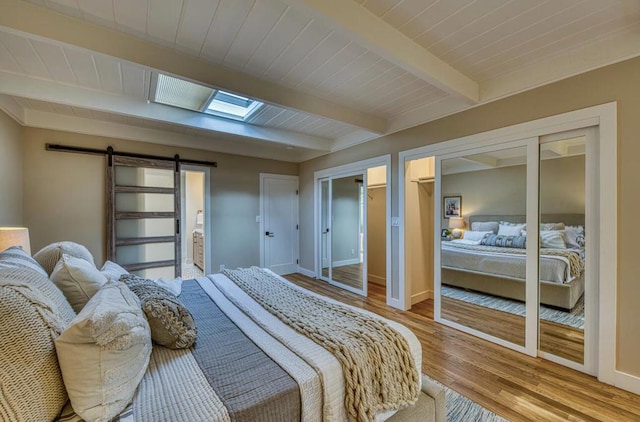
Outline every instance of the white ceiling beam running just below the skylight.
{"type": "Polygon", "coordinates": [[[96,95],[96,91],[91,89],[16,75],[5,71],[0,71],[0,94],[205,129],[217,132],[221,137],[230,134],[281,145],[330,151],[331,140],[326,138],[249,125],[122,95],[107,93],[96,95]]]}

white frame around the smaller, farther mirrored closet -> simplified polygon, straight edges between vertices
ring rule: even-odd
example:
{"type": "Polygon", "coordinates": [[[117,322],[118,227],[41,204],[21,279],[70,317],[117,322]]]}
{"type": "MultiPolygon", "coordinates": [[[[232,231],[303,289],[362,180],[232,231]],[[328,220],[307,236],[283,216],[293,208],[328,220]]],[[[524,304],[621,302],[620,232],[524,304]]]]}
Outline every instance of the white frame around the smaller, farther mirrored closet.
{"type": "MultiPolygon", "coordinates": [[[[366,183],[366,173],[367,169],[371,167],[379,167],[386,166],[386,223],[385,223],[385,231],[386,231],[386,292],[387,292],[387,304],[389,304],[389,300],[391,298],[392,292],[392,280],[391,280],[391,154],[382,155],[379,157],[369,158],[366,160],[356,161],[354,163],[344,164],[341,166],[331,167],[328,169],[318,170],[313,173],[313,189],[314,189],[314,206],[313,206],[313,256],[314,256],[314,272],[316,278],[319,279],[319,276],[322,275],[322,262],[320,258],[321,248],[320,248],[320,231],[322,229],[320,225],[320,213],[322,210],[320,209],[321,203],[321,189],[320,189],[320,179],[325,179],[327,177],[340,177],[341,175],[348,175],[350,173],[362,172],[365,175],[364,183],[366,183]]],[[[366,185],[365,185],[366,187],[366,185]]],[[[366,202],[366,201],[365,201],[366,202]]],[[[365,205],[366,206],[366,205],[365,205]]],[[[366,215],[365,215],[366,221],[366,215]]],[[[365,250],[366,250],[366,230],[365,230],[365,250]]],[[[365,256],[365,263],[367,257],[365,256]]],[[[365,266],[366,271],[366,266],[365,266]]],[[[366,284],[366,277],[363,279],[363,284],[366,284]]]]}

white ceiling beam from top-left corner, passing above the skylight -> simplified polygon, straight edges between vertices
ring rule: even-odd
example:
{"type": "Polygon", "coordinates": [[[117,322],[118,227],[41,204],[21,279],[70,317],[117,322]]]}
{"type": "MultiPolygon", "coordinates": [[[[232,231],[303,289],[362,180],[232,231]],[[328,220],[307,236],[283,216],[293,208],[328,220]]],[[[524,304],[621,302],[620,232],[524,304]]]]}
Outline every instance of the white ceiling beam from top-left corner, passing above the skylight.
{"type": "Polygon", "coordinates": [[[21,0],[0,2],[0,26],[182,76],[270,104],[384,133],[385,119],[231,70],[132,35],[21,0]]]}

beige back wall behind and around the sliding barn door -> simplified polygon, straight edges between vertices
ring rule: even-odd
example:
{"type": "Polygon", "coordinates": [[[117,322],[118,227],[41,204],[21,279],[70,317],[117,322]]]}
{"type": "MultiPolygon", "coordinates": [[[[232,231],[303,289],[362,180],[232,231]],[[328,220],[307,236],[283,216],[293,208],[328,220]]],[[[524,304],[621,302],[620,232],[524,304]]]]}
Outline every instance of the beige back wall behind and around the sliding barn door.
{"type": "MultiPolygon", "coordinates": [[[[297,164],[187,148],[151,145],[52,130],[24,128],[24,224],[31,246],[59,240],[86,245],[101,264],[105,257],[105,158],[46,151],[45,143],[217,161],[211,169],[212,262],[228,268],[260,264],[259,174],[295,175],[297,164]]],[[[213,271],[212,271],[213,272],[213,271]]]]}

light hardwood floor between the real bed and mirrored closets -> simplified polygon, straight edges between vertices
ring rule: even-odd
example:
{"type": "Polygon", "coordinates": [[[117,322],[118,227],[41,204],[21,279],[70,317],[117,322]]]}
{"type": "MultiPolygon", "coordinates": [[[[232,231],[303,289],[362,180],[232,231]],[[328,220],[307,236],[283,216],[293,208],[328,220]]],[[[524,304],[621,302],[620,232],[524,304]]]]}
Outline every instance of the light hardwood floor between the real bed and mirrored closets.
{"type": "Polygon", "coordinates": [[[431,300],[403,312],[385,305],[384,286],[369,283],[362,297],[301,274],[286,278],[406,325],[422,343],[422,372],[510,421],[640,421],[640,396],[438,324],[431,300]]]}

